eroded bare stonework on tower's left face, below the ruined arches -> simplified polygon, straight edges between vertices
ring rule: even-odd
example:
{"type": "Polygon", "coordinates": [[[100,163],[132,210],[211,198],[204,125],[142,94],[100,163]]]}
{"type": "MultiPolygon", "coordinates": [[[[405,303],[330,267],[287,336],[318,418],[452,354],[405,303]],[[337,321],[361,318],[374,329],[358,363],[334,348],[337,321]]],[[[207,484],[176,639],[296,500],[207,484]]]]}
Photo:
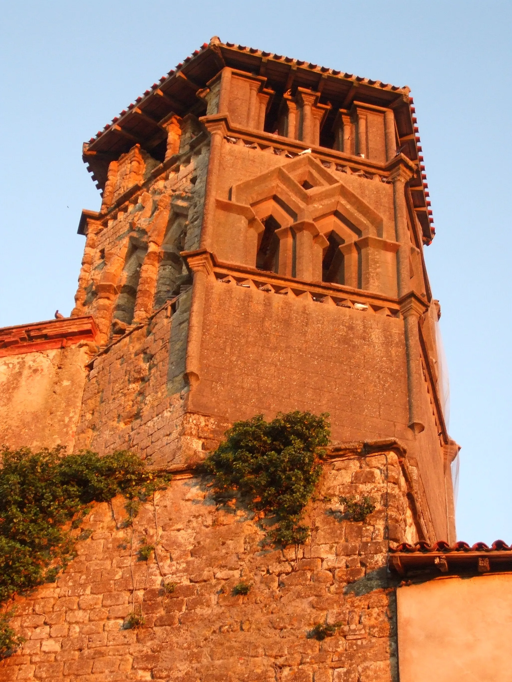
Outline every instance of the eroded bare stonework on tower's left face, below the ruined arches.
{"type": "Polygon", "coordinates": [[[225,419],[188,413],[189,312],[190,289],[94,359],[76,451],[131,449],[154,466],[182,469],[221,440],[225,419]]]}

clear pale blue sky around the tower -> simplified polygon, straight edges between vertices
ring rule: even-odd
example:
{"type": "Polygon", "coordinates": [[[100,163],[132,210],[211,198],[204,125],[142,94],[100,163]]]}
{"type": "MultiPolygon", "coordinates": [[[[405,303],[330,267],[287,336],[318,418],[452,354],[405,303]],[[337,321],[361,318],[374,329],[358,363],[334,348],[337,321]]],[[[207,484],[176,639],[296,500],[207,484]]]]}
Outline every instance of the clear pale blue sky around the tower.
{"type": "Polygon", "coordinates": [[[1,3],[0,326],[68,315],[100,194],[81,144],[212,35],[414,96],[462,445],[457,535],[512,542],[509,0],[1,3]],[[508,282],[508,284],[507,284],[508,282]]]}

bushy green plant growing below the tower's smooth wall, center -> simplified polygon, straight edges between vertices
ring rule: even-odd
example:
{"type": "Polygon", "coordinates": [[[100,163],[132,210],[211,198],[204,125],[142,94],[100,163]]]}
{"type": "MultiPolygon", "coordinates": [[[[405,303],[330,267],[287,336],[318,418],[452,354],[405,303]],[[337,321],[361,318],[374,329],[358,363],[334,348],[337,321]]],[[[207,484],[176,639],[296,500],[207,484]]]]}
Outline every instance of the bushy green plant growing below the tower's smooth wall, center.
{"type": "Polygon", "coordinates": [[[263,415],[237,421],[205,462],[218,499],[239,492],[250,509],[275,518],[268,535],[273,544],[300,544],[309,535],[302,513],[320,477],[319,459],[330,436],[327,417],[295,411],[270,422],[263,415]]]}

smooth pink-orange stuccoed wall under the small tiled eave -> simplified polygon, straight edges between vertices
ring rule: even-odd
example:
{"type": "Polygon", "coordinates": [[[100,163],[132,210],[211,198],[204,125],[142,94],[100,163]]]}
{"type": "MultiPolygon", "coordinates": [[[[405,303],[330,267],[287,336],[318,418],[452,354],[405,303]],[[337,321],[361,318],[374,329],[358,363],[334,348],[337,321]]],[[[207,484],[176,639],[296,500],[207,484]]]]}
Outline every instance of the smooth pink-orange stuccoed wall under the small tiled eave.
{"type": "Polygon", "coordinates": [[[512,574],[399,587],[400,682],[511,682],[512,574]]]}

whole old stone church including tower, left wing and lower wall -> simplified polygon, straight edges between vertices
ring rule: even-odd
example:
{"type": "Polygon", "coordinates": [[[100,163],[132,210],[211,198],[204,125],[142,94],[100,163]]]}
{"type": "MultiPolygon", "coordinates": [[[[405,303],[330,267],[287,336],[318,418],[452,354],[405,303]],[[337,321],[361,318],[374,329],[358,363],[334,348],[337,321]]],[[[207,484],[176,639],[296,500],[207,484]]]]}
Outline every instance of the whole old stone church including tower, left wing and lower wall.
{"type": "Polygon", "coordinates": [[[76,306],[0,330],[0,440],[175,476],[133,528],[120,499],[91,510],[57,582],[16,599],[0,681],[397,680],[388,550],[455,540],[458,451],[414,113],[408,88],[212,38],[84,144],[102,205],[76,306]],[[294,409],[330,413],[333,445],[308,542],[269,549],[194,466],[294,409]],[[347,520],[339,496],[365,495],[347,520]]]}

